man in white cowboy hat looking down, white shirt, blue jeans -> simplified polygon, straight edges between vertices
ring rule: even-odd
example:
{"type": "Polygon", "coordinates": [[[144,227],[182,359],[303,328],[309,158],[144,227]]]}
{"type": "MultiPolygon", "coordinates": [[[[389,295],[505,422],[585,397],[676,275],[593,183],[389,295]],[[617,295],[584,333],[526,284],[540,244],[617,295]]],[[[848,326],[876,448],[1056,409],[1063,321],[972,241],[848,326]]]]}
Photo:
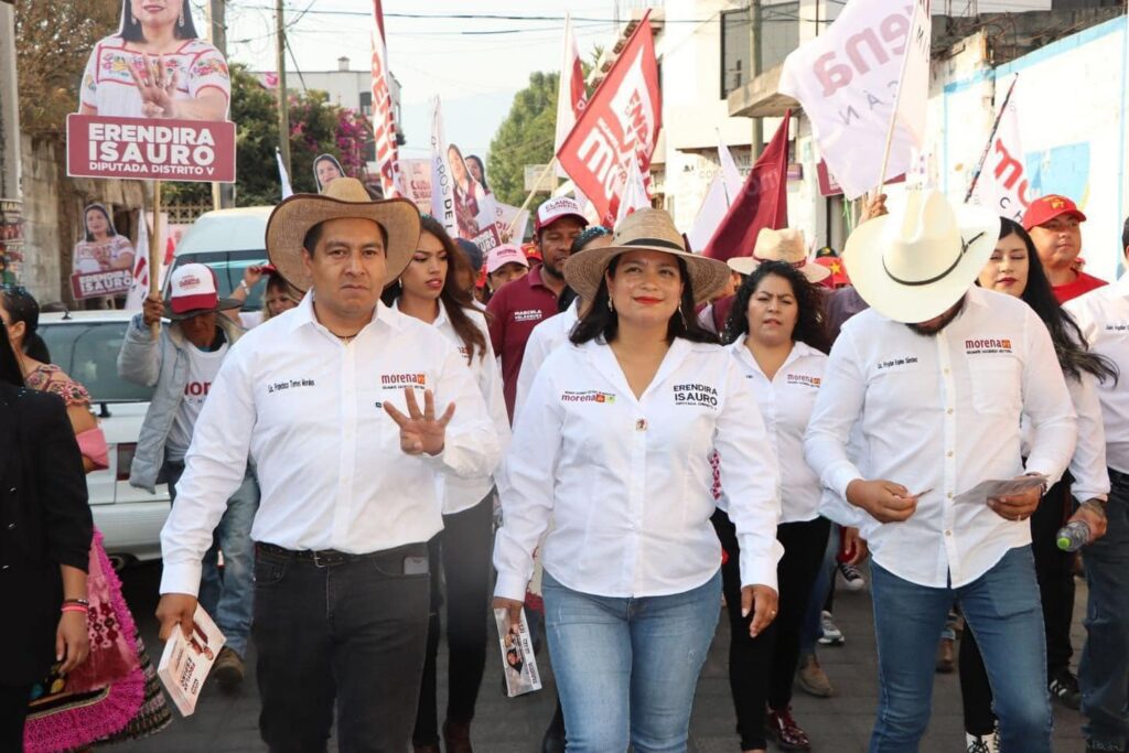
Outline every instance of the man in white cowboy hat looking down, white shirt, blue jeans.
{"type": "Polygon", "coordinates": [[[991,677],[1001,750],[1051,750],[1027,518],[1074,453],[1070,396],[1042,321],[971,287],[999,219],[937,192],[861,225],[844,263],[872,306],[835,341],[805,438],[824,485],[860,508],[873,553],[879,707],[872,753],[918,750],[954,598],[991,677]],[[1031,421],[1026,466],[1021,415],[1031,421]],[[861,422],[861,453],[848,457],[861,422]],[[1027,478],[1041,474],[1044,478],[1027,478]],[[1027,484],[989,497],[989,480],[1027,484]]]}

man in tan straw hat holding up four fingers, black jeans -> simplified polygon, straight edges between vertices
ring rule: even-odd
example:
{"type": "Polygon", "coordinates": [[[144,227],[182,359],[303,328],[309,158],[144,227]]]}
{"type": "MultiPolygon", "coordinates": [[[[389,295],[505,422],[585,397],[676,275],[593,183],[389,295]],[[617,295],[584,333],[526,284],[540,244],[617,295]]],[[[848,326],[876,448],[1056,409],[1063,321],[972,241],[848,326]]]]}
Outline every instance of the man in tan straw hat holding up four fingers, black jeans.
{"type": "Polygon", "coordinates": [[[414,205],[369,201],[353,178],[279,204],[271,261],[309,292],[224,364],[161,533],[166,638],[192,628],[208,531],[250,453],[263,492],[253,637],[271,750],[324,750],[334,702],[341,750],[408,747],[427,640],[427,542],[443,526],[437,474],[482,476],[498,462],[465,360],[435,327],[379,303],[419,233],[414,205]]]}

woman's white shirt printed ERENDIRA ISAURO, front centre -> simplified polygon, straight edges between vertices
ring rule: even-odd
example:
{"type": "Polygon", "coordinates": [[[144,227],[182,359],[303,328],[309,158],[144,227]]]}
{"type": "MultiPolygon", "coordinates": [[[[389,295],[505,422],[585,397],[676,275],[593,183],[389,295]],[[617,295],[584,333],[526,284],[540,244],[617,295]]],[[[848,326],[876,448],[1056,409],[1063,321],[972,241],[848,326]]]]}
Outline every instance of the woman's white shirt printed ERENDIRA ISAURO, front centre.
{"type": "Polygon", "coordinates": [[[776,588],[779,476],[733,357],[677,339],[636,399],[611,347],[558,348],[534,378],[499,484],[495,593],[522,598],[550,519],[542,563],[574,590],[641,597],[702,585],[721,564],[710,524],[714,449],[742,584],[776,588]]]}

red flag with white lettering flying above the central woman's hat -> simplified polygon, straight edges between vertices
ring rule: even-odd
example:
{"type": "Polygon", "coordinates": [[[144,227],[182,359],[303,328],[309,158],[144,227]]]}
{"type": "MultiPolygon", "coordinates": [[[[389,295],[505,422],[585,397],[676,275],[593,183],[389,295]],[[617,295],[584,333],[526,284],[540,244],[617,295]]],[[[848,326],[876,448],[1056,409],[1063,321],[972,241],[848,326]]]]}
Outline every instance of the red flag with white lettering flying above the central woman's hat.
{"type": "Polygon", "coordinates": [[[607,227],[615,222],[630,160],[638,161],[645,181],[650,175],[662,110],[647,11],[557,152],[561,167],[607,227]]]}

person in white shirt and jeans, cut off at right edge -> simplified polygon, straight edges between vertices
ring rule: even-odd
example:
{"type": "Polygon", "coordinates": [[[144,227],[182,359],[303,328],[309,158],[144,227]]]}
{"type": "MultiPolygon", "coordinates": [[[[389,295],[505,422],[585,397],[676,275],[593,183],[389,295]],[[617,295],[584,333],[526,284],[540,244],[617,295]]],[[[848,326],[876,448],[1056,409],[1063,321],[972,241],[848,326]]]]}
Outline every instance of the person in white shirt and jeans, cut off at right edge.
{"type": "MultiPolygon", "coordinates": [[[[1121,243],[1129,256],[1129,220],[1121,243]]],[[[1129,741],[1129,273],[1064,306],[1091,350],[1118,366],[1097,386],[1110,496],[1105,535],[1082,550],[1089,587],[1086,646],[1078,666],[1086,751],[1124,751],[1129,741]]]]}

